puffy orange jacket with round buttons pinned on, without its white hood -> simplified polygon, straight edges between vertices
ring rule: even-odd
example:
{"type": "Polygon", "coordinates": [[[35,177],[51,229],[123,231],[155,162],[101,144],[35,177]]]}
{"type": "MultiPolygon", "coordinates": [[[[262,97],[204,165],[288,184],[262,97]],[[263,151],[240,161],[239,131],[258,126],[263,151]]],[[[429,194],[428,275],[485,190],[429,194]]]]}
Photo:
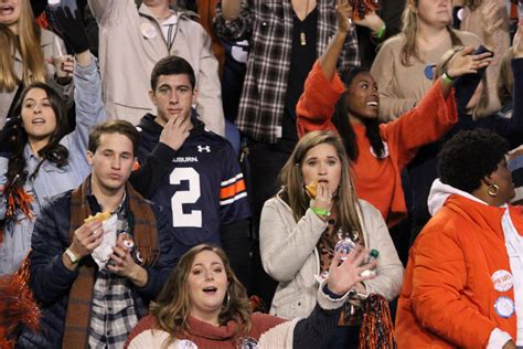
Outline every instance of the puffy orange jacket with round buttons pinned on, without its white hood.
{"type": "MultiPolygon", "coordinates": [[[[505,209],[450,195],[410,250],[396,314],[398,348],[484,348],[494,328],[516,338],[515,310],[502,318],[491,276],[511,272],[501,219],[505,209]]],[[[523,232],[523,212],[510,207],[523,232]]]]}

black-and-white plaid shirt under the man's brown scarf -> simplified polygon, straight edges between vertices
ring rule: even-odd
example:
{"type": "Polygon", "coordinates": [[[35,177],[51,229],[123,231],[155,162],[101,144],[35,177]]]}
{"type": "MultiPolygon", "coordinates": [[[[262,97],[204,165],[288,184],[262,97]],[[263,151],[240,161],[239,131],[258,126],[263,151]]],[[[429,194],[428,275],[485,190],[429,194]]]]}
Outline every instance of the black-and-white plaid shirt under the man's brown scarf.
{"type": "MultiPolygon", "coordinates": [[[[128,233],[125,197],[118,209],[116,234],[128,233]]],[[[136,251],[131,251],[131,254],[136,251]]],[[[131,284],[126,277],[103,269],[98,272],[90,317],[89,348],[124,348],[138,315],[132,299],[131,284]]]]}

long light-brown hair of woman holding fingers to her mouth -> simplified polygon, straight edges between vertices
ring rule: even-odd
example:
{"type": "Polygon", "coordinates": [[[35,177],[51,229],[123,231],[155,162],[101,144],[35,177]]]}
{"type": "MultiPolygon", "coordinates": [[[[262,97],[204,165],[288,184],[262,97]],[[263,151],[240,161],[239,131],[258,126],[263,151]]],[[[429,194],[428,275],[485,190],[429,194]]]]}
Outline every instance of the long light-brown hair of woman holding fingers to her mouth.
{"type": "Polygon", "coordinates": [[[335,134],[325,130],[316,130],[305,135],[296,145],[292,155],[285,163],[280,172],[280,182],[285,188],[285,200],[292,210],[295,220],[298,222],[309,209],[309,197],[303,190],[301,167],[307,152],[316,146],[328,144],[334,147],[341,161],[341,179],[338,194],[334,199],[337,220],[345,231],[360,232],[363,242],[362,224],[357,212],[360,209],[354,184],[350,176],[349,158],[342,140],[335,134]]]}

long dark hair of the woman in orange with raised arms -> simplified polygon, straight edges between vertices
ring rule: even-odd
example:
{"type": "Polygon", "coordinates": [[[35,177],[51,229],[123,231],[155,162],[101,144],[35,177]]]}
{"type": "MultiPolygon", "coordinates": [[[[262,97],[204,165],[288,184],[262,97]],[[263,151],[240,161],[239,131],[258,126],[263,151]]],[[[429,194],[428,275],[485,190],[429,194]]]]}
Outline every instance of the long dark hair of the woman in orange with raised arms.
{"type": "MultiPolygon", "coordinates": [[[[340,77],[343,81],[345,87],[349,88],[354,77],[360,73],[369,73],[369,70],[364,67],[342,70],[340,71],[340,77]]],[[[338,133],[343,139],[346,155],[351,160],[354,161],[357,159],[359,149],[356,144],[356,135],[354,134],[354,129],[352,128],[351,121],[346,115],[349,110],[349,105],[346,104],[346,94],[348,93],[344,92],[335,104],[334,115],[332,115],[332,124],[334,124],[338,133]]],[[[362,123],[365,125],[365,136],[369,138],[371,147],[380,160],[385,151],[382,136],[380,135],[380,121],[377,118],[364,118],[362,119],[362,123]]]]}

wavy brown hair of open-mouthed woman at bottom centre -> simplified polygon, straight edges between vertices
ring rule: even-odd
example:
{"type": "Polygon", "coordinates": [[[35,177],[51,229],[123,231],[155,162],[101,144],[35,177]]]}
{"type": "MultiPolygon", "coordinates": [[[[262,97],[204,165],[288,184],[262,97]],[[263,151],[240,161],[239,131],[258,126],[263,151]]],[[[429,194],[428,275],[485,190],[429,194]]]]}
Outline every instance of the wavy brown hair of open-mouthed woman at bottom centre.
{"type": "Polygon", "coordinates": [[[235,339],[246,336],[250,330],[250,305],[247,292],[234,274],[225,252],[216,246],[200,244],[189,250],[178,263],[171,276],[163,286],[157,303],[151,306],[151,314],[156,317],[158,327],[170,337],[164,347],[172,343],[177,336],[189,329],[188,318],[191,310],[188,278],[196,255],[204,251],[212,251],[222,260],[228,279],[228,300],[225,302],[218,315],[220,325],[234,320],[237,322],[235,339]]]}

